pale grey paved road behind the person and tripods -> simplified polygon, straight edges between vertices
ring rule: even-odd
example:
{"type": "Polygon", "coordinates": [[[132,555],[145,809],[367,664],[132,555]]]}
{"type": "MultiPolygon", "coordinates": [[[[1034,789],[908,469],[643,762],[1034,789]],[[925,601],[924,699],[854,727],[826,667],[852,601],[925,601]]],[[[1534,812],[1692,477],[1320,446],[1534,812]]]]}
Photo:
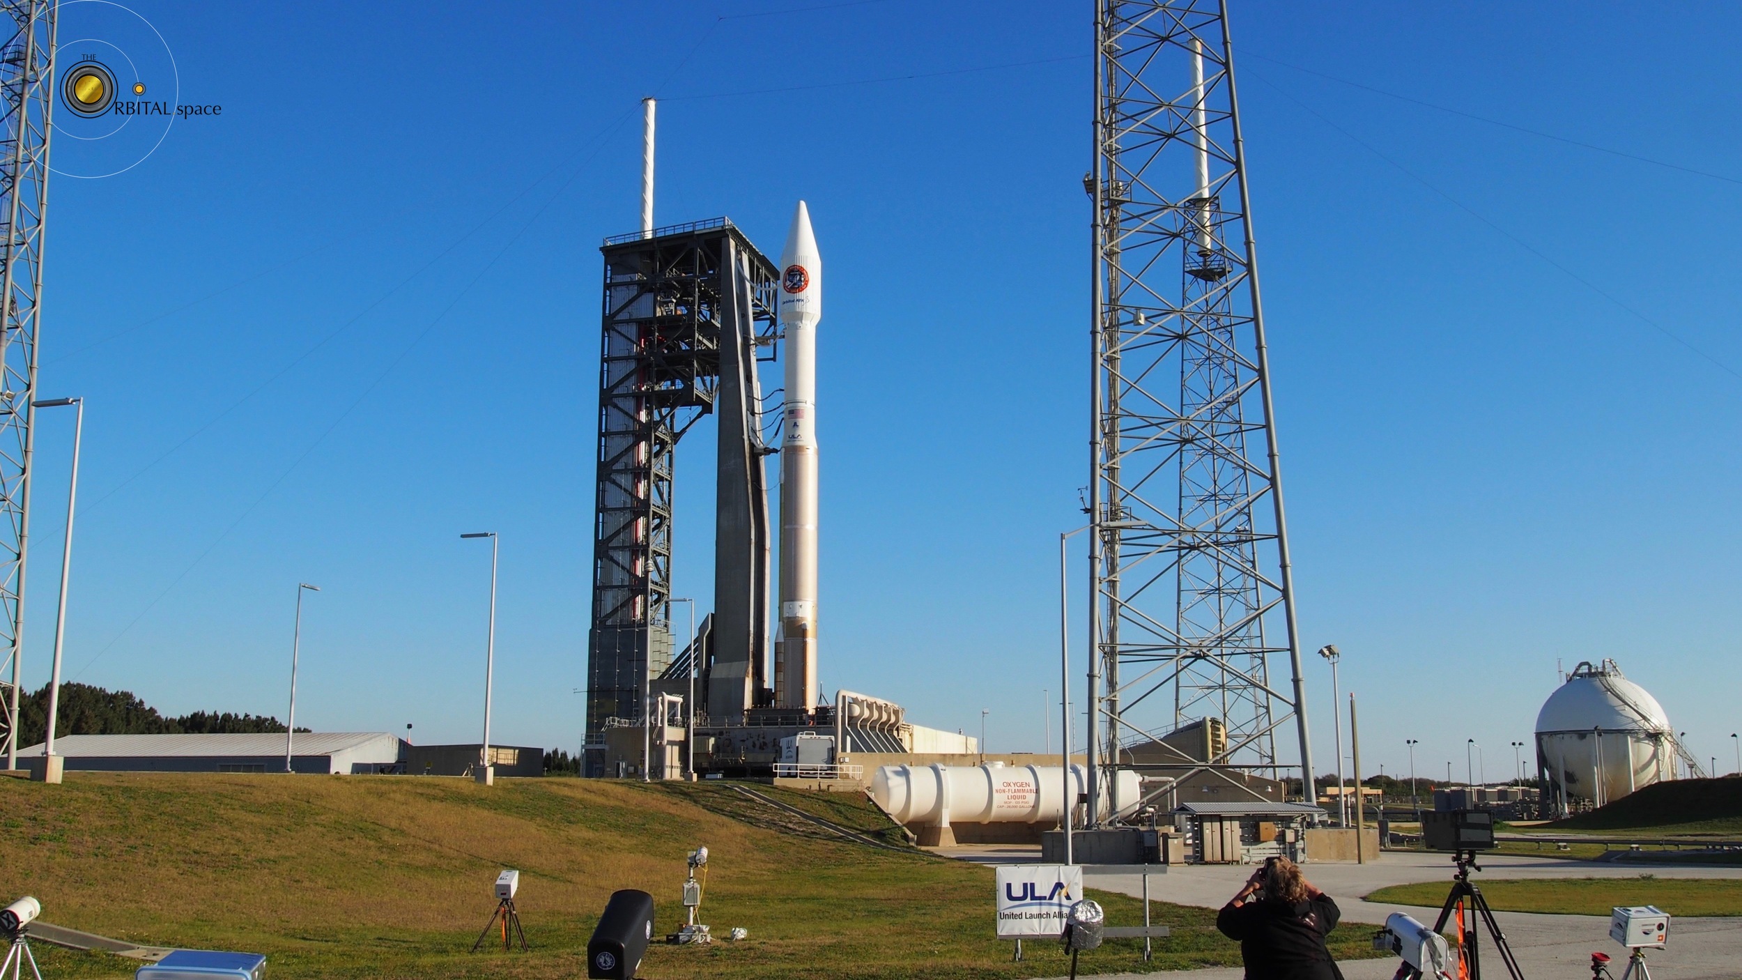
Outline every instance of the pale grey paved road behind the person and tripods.
{"type": "MultiPolygon", "coordinates": [[[[955,847],[946,854],[979,863],[1035,861],[1033,847],[955,847]]],[[[1218,909],[1240,882],[1252,874],[1242,865],[1171,865],[1157,868],[1150,877],[1150,896],[1178,905],[1218,909]]],[[[1378,888],[1418,881],[1442,881],[1451,888],[1451,860],[1446,854],[1421,851],[1388,851],[1378,861],[1366,865],[1313,863],[1306,875],[1313,884],[1336,898],[1348,922],[1383,922],[1392,912],[1408,912],[1432,924],[1437,909],[1387,905],[1362,902],[1378,888]]],[[[1519,854],[1491,854],[1482,860],[1482,870],[1474,877],[1742,877],[1742,868],[1610,865],[1596,861],[1570,861],[1564,858],[1531,858],[1519,854]]],[[[1110,867],[1085,868],[1085,882],[1092,888],[1124,895],[1143,895],[1139,875],[1110,867]]],[[[1535,915],[1528,912],[1496,912],[1507,943],[1517,956],[1528,980],[1589,980],[1590,954],[1596,950],[1615,957],[1611,971],[1620,977],[1625,964],[1622,947],[1610,940],[1610,922],[1599,915],[1535,915]]],[[[1742,977],[1742,919],[1676,919],[1669,931],[1669,949],[1651,950],[1651,977],[1655,980],[1735,980],[1742,977]]],[[[1482,935],[1486,943],[1488,936],[1482,935]]],[[[1491,943],[1482,947],[1482,966],[1489,980],[1505,978],[1505,968],[1491,956],[1491,943]]],[[[1395,959],[1367,959],[1341,964],[1347,980],[1387,980],[1395,973],[1395,959]]],[[[1240,970],[1192,970],[1192,980],[1239,980],[1240,970]]],[[[1141,975],[1118,975],[1141,977],[1141,975]]]]}

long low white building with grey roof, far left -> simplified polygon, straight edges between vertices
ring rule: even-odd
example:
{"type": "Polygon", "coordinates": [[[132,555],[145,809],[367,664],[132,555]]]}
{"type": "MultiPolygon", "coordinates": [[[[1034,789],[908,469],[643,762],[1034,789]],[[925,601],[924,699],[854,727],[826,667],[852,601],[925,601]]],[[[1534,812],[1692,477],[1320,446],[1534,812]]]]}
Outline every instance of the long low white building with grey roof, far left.
{"type": "MultiPolygon", "coordinates": [[[[296,772],[404,772],[404,741],[390,732],[296,732],[296,772]]],[[[284,772],[284,732],[57,736],[66,769],[108,772],[284,772]]],[[[42,743],[17,752],[42,757],[42,743]]]]}

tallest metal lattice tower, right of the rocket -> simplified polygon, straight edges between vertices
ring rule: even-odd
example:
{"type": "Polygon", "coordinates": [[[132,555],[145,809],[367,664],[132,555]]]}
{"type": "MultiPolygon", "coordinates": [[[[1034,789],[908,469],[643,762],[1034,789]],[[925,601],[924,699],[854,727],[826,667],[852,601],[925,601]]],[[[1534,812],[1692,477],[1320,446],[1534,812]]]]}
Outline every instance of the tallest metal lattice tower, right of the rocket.
{"type": "Polygon", "coordinates": [[[1312,750],[1232,58],[1225,2],[1096,0],[1090,766],[1240,799],[1279,727],[1306,786],[1312,750]],[[1155,760],[1200,718],[1226,741],[1155,760]]]}

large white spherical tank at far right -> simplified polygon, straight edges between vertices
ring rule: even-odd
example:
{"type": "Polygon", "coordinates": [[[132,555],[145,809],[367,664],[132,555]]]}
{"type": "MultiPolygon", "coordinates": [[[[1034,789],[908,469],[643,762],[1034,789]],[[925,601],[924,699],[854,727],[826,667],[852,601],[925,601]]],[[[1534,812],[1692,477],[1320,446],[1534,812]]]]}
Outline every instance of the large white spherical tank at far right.
{"type": "Polygon", "coordinates": [[[1676,778],[1676,732],[1664,706],[1615,661],[1582,663],[1536,713],[1536,762],[1559,811],[1603,806],[1676,778]]]}

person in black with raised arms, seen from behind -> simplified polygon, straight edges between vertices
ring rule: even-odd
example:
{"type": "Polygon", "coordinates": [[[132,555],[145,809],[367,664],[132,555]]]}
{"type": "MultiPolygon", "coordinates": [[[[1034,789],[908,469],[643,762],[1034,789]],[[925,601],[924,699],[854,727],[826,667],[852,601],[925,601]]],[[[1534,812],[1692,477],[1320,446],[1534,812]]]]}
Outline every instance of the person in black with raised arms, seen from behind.
{"type": "Polygon", "coordinates": [[[1268,858],[1221,912],[1216,928],[1240,942],[1246,980],[1343,980],[1324,936],[1341,917],[1287,858],[1268,858]]]}

